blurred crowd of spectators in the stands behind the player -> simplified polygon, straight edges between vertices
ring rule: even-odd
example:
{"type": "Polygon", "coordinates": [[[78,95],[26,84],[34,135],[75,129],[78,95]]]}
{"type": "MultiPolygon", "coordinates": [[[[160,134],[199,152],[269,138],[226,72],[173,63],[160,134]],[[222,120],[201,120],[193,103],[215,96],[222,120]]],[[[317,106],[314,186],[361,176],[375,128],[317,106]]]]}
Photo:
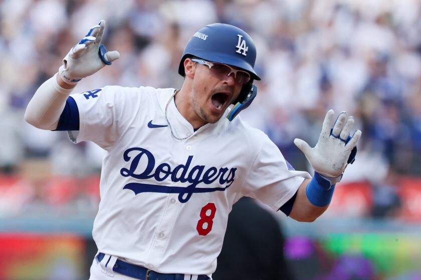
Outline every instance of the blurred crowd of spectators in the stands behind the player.
{"type": "Polygon", "coordinates": [[[99,172],[100,148],[34,128],[24,112],[100,19],[103,42],[121,57],[74,92],[108,84],[179,88],[187,40],[205,24],[225,22],[254,38],[263,77],[240,116],[296,169],[309,169],[293,139],[314,145],[325,112],[348,111],[363,133],[344,181],[368,181],[379,203],[399,204],[396,176],[421,174],[420,16],[420,0],[3,0],[0,170],[21,174],[23,162],[41,160],[47,175],[99,172]]]}

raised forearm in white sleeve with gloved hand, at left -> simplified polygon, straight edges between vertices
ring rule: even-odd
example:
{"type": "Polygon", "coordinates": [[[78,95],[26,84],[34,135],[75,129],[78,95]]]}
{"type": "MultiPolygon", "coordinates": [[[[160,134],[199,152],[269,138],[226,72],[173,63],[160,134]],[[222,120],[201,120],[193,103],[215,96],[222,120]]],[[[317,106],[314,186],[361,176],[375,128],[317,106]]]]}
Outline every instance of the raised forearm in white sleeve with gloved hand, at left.
{"type": "Polygon", "coordinates": [[[104,20],[93,26],[64,57],[59,72],[37,89],[25,112],[28,123],[41,129],[56,129],[77,82],[120,57],[118,51],[107,51],[101,44],[104,29],[104,20]]]}

